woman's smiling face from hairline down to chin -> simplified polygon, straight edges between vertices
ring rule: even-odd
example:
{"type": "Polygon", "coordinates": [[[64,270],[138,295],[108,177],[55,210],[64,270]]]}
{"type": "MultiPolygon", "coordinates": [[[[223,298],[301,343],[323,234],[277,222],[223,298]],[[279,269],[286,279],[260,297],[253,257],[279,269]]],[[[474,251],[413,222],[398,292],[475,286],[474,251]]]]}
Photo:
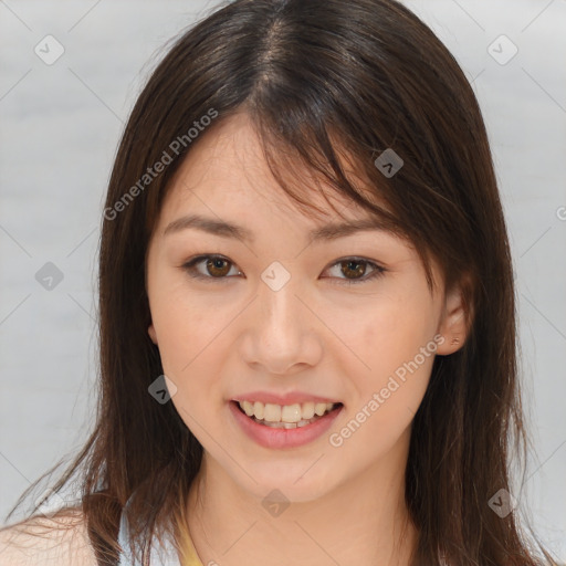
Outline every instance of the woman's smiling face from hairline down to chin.
{"type": "MultiPolygon", "coordinates": [[[[148,332],[206,469],[291,501],[399,473],[434,356],[458,349],[460,294],[431,295],[391,233],[321,230],[344,220],[318,195],[326,218],[294,208],[245,115],[198,142],[150,241],[147,292],[148,332]]],[[[348,221],[370,218],[335,202],[348,221]]]]}

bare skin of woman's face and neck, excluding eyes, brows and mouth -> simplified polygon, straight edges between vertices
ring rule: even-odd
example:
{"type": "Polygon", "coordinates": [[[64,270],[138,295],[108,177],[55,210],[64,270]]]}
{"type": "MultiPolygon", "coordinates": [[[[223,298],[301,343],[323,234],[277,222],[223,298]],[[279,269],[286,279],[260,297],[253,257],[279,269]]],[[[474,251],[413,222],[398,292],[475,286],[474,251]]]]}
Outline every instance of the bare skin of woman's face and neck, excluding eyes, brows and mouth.
{"type": "MultiPolygon", "coordinates": [[[[367,218],[364,209],[331,198],[346,218],[367,218]]],[[[284,195],[247,115],[238,114],[191,149],[150,240],[148,333],[177,387],[171,402],[205,449],[187,525],[205,565],[408,565],[416,544],[403,471],[434,354],[342,446],[332,446],[329,436],[436,335],[444,339],[437,355],[461,347],[460,291],[447,293],[434,265],[439,290],[431,294],[417,252],[389,232],[310,243],[311,229],[340,220],[322,197],[312,200],[327,217],[300,211],[284,195]],[[188,213],[243,224],[255,241],[196,229],[164,234],[188,213]],[[201,262],[196,271],[209,279],[192,279],[182,265],[200,254],[221,254],[229,263],[211,272],[201,262]],[[352,256],[387,271],[348,285],[355,273],[337,260],[352,256]],[[291,274],[276,292],[261,279],[274,261],[291,274]],[[253,390],[300,390],[344,408],[331,430],[306,446],[268,449],[229,410],[230,399],[253,390]],[[274,489],[291,503],[277,516],[262,505],[274,489]]],[[[361,279],[373,272],[365,266],[361,279]]]]}

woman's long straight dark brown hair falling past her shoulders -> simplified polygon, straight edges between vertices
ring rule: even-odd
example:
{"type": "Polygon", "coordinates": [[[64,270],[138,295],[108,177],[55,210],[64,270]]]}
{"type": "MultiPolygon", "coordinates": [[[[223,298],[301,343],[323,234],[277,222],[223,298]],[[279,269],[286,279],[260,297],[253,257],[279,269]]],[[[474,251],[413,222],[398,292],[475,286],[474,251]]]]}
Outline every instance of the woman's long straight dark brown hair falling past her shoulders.
{"type": "Polygon", "coordinates": [[[251,116],[273,175],[301,206],[307,195],[286,182],[293,160],[409,238],[429,277],[434,259],[447,289],[462,285],[470,334],[437,356],[412,426],[413,564],[537,564],[515,513],[489,505],[512,491],[509,461],[524,455],[526,436],[512,258],[484,123],[453,56],[395,0],[235,0],[177,39],[139,95],[102,221],[96,426],[54,486],[81,473],[98,564],[116,559],[128,500],[132,541],[147,551],[185,513],[199,470],[200,443],[172,403],[148,395],[163,367],[147,334],[146,252],[182,158],[235,112],[251,116]],[[387,149],[403,161],[392,176],[375,164],[387,149]]]}

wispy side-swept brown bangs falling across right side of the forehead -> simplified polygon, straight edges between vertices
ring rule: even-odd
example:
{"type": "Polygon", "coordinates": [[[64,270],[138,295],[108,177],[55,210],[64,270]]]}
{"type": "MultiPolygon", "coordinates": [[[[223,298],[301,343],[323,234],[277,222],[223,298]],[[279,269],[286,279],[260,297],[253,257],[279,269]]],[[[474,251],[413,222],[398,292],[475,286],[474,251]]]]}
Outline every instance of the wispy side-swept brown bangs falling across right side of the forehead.
{"type": "Polygon", "coordinates": [[[281,114],[262,112],[252,101],[239,112],[251,116],[271,174],[297,208],[306,216],[327,218],[328,212],[314,202],[318,193],[343,220],[349,219],[344,212],[353,205],[364,209],[384,230],[417,250],[432,292],[429,251],[402,212],[396,210],[395,199],[389,197],[395,187],[374,165],[377,153],[346,137],[339,128],[327,128],[322,120],[304,119],[296,128],[289,128],[289,115],[281,119],[281,114]]]}

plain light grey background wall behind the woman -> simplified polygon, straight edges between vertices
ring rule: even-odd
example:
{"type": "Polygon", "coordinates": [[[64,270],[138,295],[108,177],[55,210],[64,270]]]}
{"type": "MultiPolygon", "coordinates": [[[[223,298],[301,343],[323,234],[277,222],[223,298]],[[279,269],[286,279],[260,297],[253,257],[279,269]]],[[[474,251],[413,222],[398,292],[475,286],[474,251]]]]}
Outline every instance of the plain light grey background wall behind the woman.
{"type": "MultiPolygon", "coordinates": [[[[116,145],[159,48],[217,3],[0,1],[0,523],[92,429],[96,254],[116,145]],[[48,34],[65,50],[52,65],[34,53],[48,34]],[[35,279],[48,262],[63,275],[51,290],[35,279]]],[[[455,55],[484,112],[534,443],[515,495],[566,559],[566,1],[406,3],[455,55]]]]}

